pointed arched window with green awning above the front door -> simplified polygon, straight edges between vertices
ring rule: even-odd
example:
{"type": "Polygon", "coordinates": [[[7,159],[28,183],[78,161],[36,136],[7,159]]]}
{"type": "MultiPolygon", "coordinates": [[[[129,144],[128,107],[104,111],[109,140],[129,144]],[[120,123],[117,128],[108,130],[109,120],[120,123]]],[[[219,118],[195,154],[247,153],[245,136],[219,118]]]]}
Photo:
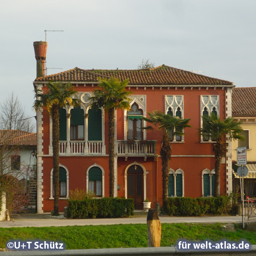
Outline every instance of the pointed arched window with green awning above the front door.
{"type": "Polygon", "coordinates": [[[139,106],[134,103],[131,110],[127,112],[128,139],[141,140],[142,136],[142,118],[143,112],[139,106]]]}

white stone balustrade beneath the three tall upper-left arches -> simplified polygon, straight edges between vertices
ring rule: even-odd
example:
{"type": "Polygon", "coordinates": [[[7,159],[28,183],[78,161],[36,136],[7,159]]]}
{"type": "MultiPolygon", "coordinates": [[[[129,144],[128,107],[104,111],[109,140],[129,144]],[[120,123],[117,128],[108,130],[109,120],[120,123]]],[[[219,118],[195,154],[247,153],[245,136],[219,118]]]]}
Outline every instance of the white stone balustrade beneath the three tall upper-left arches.
{"type": "Polygon", "coordinates": [[[102,141],[88,141],[85,147],[84,141],[70,141],[69,148],[67,141],[60,141],[60,155],[101,155],[102,154],[102,141]]]}

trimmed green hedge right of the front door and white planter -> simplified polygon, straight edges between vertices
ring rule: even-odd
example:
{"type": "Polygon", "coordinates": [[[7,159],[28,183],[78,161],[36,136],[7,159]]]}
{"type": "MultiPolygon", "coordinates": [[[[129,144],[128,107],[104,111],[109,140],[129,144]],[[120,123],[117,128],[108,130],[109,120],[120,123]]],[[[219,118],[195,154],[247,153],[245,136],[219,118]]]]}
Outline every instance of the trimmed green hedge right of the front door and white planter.
{"type": "Polygon", "coordinates": [[[168,197],[163,202],[161,210],[169,216],[222,215],[230,210],[230,197],[168,197]]]}

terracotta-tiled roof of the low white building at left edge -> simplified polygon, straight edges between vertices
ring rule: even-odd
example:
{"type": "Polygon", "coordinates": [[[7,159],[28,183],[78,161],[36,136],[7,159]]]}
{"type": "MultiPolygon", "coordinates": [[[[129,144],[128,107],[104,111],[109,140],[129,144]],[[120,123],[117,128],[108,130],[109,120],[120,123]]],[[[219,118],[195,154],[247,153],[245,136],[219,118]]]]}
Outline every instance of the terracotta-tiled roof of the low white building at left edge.
{"type": "Polygon", "coordinates": [[[20,130],[0,130],[0,144],[36,146],[36,133],[20,130]]]}

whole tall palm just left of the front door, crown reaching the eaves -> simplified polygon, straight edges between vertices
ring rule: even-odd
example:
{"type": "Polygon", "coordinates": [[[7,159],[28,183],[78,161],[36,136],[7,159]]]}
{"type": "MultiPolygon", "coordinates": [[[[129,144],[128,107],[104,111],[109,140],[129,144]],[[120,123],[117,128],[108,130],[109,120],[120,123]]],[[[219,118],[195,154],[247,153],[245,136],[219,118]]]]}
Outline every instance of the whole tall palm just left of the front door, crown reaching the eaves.
{"type": "Polygon", "coordinates": [[[130,109],[129,95],[125,87],[129,79],[119,81],[117,78],[98,79],[98,88],[93,90],[92,108],[104,108],[109,117],[109,195],[114,197],[114,157],[115,157],[115,110],[130,109]]]}

